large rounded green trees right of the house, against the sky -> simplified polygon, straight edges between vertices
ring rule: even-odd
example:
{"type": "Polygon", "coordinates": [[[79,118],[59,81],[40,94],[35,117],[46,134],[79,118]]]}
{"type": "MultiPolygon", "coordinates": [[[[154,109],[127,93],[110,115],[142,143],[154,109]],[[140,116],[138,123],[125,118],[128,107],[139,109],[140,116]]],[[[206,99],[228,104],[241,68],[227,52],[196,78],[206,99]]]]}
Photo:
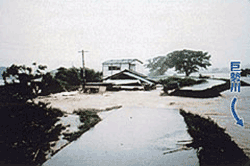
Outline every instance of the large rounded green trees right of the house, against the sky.
{"type": "Polygon", "coordinates": [[[199,68],[207,69],[211,66],[210,58],[211,55],[207,52],[184,49],[148,60],[146,67],[154,75],[163,75],[169,68],[175,67],[178,73],[185,73],[189,76],[191,73],[198,72],[199,68]]]}

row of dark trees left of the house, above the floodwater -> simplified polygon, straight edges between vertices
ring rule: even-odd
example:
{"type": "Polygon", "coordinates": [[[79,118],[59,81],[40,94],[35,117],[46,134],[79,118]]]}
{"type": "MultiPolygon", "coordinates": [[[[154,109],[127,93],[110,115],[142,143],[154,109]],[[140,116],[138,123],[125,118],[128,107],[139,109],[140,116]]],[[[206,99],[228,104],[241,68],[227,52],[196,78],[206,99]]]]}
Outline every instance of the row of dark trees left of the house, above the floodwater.
{"type": "MultiPolygon", "coordinates": [[[[46,72],[47,66],[33,63],[31,67],[13,64],[3,71],[5,86],[1,87],[3,95],[8,99],[26,101],[38,95],[49,95],[62,91],[80,88],[83,83],[82,68],[60,67],[53,72],[46,72]]],[[[87,82],[101,81],[102,73],[93,69],[85,69],[87,82]]],[[[6,102],[8,102],[8,99],[6,102]]]]}

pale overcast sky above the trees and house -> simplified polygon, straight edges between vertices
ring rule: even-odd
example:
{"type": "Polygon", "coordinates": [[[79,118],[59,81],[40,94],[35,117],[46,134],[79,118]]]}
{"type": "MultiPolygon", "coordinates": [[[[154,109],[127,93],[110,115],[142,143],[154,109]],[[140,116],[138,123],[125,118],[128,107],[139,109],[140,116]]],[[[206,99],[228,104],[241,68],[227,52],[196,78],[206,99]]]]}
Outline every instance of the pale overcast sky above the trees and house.
{"type": "Polygon", "coordinates": [[[175,50],[250,64],[249,0],[0,0],[0,66],[86,66],[175,50]]]}

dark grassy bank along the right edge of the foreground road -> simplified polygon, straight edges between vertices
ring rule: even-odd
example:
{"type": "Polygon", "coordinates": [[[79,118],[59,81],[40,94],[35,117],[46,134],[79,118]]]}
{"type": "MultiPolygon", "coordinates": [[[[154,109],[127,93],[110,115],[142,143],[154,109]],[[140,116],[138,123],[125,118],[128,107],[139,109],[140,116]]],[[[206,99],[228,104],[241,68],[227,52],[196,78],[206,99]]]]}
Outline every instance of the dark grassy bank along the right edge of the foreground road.
{"type": "Polygon", "coordinates": [[[249,161],[231,137],[210,118],[187,113],[180,109],[187,124],[187,131],[193,138],[187,147],[197,150],[200,166],[239,166],[249,161]]]}

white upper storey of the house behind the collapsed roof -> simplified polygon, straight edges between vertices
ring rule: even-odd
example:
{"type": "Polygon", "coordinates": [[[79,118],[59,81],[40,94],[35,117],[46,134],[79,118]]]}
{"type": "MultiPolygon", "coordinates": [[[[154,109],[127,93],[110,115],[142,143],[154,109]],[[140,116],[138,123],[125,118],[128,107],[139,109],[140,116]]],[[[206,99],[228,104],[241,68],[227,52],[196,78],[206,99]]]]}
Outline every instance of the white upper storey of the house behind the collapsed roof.
{"type": "Polygon", "coordinates": [[[137,71],[138,65],[143,64],[138,59],[113,59],[102,63],[103,78],[119,73],[125,69],[137,71]]]}

